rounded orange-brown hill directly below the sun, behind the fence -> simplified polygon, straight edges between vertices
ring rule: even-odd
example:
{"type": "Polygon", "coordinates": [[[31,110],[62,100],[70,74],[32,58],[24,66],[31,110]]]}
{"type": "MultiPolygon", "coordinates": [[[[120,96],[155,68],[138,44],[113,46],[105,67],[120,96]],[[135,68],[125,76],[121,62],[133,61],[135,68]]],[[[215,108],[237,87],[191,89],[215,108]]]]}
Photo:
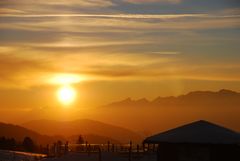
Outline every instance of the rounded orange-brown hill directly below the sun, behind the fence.
{"type": "Polygon", "coordinates": [[[44,135],[63,135],[70,137],[73,135],[97,135],[109,137],[113,140],[127,143],[129,140],[141,141],[141,136],[137,133],[99,121],[81,119],[75,121],[52,121],[35,120],[24,123],[22,126],[37,131],[44,135]]]}

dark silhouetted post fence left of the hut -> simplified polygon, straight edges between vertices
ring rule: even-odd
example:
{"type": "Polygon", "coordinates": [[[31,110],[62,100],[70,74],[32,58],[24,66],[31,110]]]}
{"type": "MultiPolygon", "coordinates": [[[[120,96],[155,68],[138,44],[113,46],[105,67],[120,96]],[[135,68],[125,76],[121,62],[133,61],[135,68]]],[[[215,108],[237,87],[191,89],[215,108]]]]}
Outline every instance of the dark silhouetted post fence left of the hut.
{"type": "Polygon", "coordinates": [[[99,161],[101,161],[102,153],[115,153],[122,157],[127,157],[128,160],[131,161],[132,158],[140,158],[151,152],[155,152],[157,146],[149,144],[133,144],[131,141],[128,144],[113,144],[110,142],[107,142],[106,144],[90,144],[88,142],[85,142],[84,144],[68,144],[68,142],[62,144],[59,142],[52,146],[48,146],[47,149],[49,157],[60,157],[69,152],[75,152],[88,155],[98,154],[99,161]]]}

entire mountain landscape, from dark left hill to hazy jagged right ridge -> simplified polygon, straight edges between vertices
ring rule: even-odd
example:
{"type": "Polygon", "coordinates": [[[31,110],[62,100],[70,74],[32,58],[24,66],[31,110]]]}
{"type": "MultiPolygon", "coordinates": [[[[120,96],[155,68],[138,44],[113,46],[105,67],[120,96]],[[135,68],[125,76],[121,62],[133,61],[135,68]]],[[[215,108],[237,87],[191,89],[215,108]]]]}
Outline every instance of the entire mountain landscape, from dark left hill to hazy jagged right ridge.
{"type": "Polygon", "coordinates": [[[240,93],[225,89],[217,92],[195,91],[177,97],[158,97],[152,101],[127,98],[97,108],[96,115],[91,119],[39,119],[20,125],[0,123],[0,137],[13,137],[22,141],[29,136],[39,144],[57,140],[76,142],[79,135],[90,143],[128,143],[130,140],[140,142],[143,135],[199,119],[217,122],[239,131],[239,107],[240,93]],[[207,113],[205,108],[208,108],[207,113]],[[220,119],[222,117],[226,118],[225,121],[220,119]],[[94,118],[101,121],[92,120],[94,118]]]}

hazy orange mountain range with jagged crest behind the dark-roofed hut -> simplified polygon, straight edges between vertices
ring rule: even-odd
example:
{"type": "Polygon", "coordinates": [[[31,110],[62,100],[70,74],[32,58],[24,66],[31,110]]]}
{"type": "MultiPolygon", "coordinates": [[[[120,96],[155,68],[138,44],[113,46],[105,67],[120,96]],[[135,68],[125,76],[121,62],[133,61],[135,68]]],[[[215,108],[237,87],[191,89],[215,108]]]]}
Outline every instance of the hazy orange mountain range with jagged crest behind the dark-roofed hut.
{"type": "Polygon", "coordinates": [[[153,100],[127,98],[102,106],[98,113],[103,118],[101,121],[115,121],[114,124],[144,136],[202,119],[240,131],[240,93],[222,89],[153,100]]]}

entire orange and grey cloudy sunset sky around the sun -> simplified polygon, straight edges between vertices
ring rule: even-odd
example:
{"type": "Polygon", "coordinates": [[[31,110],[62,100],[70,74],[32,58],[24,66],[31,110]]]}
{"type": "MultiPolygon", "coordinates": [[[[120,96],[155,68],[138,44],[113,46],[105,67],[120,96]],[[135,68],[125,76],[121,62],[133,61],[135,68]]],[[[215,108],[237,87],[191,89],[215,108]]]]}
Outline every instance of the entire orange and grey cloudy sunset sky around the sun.
{"type": "Polygon", "coordinates": [[[0,111],[240,91],[239,0],[1,0],[0,111]]]}

